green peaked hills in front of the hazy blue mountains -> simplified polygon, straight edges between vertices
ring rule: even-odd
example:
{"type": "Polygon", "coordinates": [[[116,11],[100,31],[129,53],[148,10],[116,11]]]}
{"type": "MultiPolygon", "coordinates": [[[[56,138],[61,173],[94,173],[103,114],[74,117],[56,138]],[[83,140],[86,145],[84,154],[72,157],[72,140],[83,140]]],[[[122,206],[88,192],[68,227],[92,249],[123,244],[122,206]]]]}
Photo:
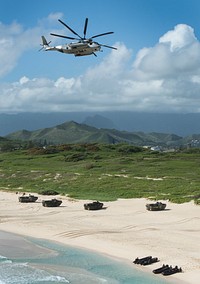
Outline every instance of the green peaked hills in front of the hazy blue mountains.
{"type": "Polygon", "coordinates": [[[11,140],[33,141],[53,145],[70,143],[129,143],[138,146],[176,144],[182,137],[163,133],[127,132],[98,129],[74,121],[35,131],[21,130],[6,136],[11,140]]]}

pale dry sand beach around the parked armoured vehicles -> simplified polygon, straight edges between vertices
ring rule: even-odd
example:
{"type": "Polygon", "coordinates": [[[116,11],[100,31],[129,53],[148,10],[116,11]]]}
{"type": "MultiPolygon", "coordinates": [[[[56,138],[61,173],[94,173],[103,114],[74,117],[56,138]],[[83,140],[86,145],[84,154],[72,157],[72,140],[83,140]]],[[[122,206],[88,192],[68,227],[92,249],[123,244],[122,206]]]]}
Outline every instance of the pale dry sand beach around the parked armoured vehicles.
{"type": "Polygon", "coordinates": [[[200,207],[192,202],[167,203],[167,210],[150,212],[147,200],[105,202],[105,209],[86,211],[86,201],[61,197],[62,206],[46,208],[39,196],[36,203],[19,203],[18,195],[0,191],[0,230],[82,247],[123,259],[133,265],[146,255],[160,259],[140,267],[146,272],[163,263],[181,266],[167,280],[197,284],[200,279],[200,207]]]}

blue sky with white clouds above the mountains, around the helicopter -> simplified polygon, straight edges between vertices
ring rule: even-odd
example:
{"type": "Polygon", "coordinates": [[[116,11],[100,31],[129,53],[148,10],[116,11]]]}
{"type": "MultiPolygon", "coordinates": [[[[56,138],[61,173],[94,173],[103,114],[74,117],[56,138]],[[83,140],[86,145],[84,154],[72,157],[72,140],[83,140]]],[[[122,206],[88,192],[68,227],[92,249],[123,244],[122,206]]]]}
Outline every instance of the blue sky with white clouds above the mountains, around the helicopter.
{"type": "Polygon", "coordinates": [[[0,113],[200,112],[199,0],[0,0],[0,113]],[[64,21],[102,47],[75,57],[64,21]]]}

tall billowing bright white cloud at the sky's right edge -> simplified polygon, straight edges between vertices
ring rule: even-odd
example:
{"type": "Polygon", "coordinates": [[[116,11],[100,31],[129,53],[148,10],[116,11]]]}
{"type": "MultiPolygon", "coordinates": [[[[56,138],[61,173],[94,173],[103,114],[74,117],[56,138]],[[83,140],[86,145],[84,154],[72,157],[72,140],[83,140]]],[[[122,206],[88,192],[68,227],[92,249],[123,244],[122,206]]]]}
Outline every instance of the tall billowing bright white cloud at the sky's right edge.
{"type": "Polygon", "coordinates": [[[134,72],[138,79],[177,78],[199,73],[200,43],[193,29],[178,25],[163,35],[152,48],[138,52],[134,72]]]}

